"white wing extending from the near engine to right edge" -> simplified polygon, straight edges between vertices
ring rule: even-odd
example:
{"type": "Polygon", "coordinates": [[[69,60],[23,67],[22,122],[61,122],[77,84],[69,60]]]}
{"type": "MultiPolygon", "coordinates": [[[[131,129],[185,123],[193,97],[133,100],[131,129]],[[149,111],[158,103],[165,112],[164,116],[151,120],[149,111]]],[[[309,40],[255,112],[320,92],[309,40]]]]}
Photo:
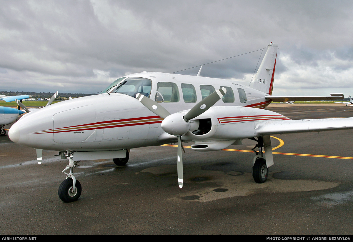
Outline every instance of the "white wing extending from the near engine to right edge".
{"type": "Polygon", "coordinates": [[[353,117],[334,119],[283,120],[260,123],[255,128],[257,136],[301,132],[320,132],[353,129],[353,117]]]}

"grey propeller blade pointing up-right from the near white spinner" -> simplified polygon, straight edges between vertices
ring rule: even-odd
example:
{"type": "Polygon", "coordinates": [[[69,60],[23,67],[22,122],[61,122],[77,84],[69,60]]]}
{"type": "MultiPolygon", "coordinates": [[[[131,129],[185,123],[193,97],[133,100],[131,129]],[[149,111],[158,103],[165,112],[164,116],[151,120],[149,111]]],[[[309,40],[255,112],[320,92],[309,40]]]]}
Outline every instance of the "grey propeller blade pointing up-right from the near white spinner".
{"type": "Polygon", "coordinates": [[[221,99],[227,92],[225,87],[222,87],[215,92],[208,95],[202,101],[198,102],[192,109],[187,112],[184,116],[185,122],[189,122],[189,120],[199,116],[200,114],[204,113],[210,107],[212,107],[219,99],[221,99]]]}

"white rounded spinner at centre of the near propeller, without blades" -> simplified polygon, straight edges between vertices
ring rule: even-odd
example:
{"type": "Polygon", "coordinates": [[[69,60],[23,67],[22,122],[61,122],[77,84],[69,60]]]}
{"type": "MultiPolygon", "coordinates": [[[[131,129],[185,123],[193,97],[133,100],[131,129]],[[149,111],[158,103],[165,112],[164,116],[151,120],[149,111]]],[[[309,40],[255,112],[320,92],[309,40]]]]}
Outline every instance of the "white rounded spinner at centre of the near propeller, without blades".
{"type": "Polygon", "coordinates": [[[184,113],[175,113],[168,115],[161,123],[162,129],[171,135],[183,135],[186,134],[190,127],[190,122],[185,122],[184,113]]]}

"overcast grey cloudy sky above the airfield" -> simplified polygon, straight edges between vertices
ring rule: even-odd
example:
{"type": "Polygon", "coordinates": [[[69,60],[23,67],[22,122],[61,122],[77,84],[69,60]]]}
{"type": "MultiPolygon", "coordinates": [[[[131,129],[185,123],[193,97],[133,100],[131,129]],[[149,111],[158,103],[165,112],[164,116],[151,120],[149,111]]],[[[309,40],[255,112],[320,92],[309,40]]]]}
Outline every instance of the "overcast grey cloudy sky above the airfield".
{"type": "MultiPolygon", "coordinates": [[[[353,1],[0,0],[0,90],[95,93],[126,74],[175,72],[273,42],[273,95],[353,96],[352,13],[353,1]]],[[[260,55],[201,75],[249,82],[260,55]]]]}

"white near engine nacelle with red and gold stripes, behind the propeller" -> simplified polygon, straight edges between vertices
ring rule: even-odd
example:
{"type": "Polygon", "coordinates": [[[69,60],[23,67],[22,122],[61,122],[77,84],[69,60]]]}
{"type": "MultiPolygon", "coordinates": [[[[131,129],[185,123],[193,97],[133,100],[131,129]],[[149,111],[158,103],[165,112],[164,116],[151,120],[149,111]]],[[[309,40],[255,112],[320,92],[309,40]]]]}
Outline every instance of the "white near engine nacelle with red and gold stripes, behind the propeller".
{"type": "Polygon", "coordinates": [[[231,145],[227,146],[231,141],[257,137],[255,130],[262,122],[288,118],[264,109],[223,106],[211,107],[192,121],[197,120],[199,127],[191,128],[183,135],[183,140],[197,143],[193,146],[194,150],[210,151],[224,149],[231,145]]]}

